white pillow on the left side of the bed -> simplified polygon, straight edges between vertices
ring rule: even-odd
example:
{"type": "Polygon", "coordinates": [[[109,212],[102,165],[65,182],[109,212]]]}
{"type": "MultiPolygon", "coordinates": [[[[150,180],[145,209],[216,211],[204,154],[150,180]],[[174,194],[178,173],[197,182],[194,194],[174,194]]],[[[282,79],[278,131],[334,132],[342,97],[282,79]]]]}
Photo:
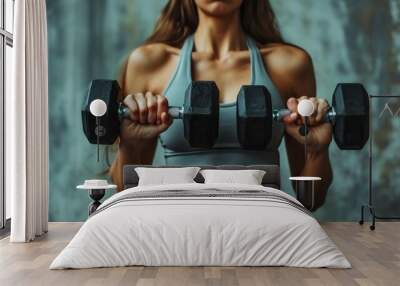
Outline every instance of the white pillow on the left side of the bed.
{"type": "Polygon", "coordinates": [[[139,176],[139,186],[195,183],[193,179],[199,170],[199,167],[135,168],[139,176]]]}

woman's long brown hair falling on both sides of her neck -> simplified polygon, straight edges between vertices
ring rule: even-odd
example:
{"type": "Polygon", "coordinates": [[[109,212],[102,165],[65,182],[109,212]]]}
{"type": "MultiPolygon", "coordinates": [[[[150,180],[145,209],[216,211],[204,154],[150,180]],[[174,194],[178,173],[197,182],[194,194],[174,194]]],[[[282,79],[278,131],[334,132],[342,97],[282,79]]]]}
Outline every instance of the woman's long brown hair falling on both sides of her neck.
{"type": "MultiPolygon", "coordinates": [[[[240,19],[244,32],[260,44],[282,43],[275,13],[269,0],[243,0],[240,19]]],[[[199,17],[194,0],[169,0],[161,12],[153,34],[144,42],[181,47],[193,34],[199,17]]]]}

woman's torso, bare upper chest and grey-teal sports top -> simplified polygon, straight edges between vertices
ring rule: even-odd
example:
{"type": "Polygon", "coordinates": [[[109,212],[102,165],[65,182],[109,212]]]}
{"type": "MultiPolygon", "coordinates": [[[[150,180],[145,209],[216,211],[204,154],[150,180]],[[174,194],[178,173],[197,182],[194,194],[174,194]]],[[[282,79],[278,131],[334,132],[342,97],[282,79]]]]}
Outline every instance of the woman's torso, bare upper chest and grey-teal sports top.
{"type": "Polygon", "coordinates": [[[214,80],[220,90],[221,102],[218,140],[213,149],[193,149],[184,138],[182,121],[174,120],[160,135],[157,164],[279,164],[277,149],[283,136],[281,123],[274,123],[273,139],[265,150],[244,150],[236,137],[236,97],[242,85],[266,86],[272,96],[273,108],[283,108],[282,98],[266,72],[254,40],[247,38],[247,47],[247,51],[237,52],[232,59],[216,63],[192,53],[193,37],[185,41],[179,58],[172,59],[164,69],[169,70],[171,76],[164,83],[163,94],[169,105],[181,106],[192,80],[214,80]]]}

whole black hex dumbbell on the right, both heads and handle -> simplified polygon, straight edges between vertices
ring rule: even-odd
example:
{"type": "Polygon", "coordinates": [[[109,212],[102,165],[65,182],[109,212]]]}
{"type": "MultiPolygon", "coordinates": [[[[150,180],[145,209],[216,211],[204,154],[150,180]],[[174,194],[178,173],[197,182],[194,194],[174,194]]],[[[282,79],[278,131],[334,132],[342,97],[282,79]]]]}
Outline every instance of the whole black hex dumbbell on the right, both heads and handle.
{"type": "MultiPolygon", "coordinates": [[[[280,121],[290,111],[273,110],[271,95],[264,86],[242,87],[239,102],[237,128],[242,147],[264,149],[271,140],[273,122],[280,121]]],[[[363,85],[339,83],[324,121],[332,124],[340,149],[362,149],[369,138],[369,96],[363,85]]]]}

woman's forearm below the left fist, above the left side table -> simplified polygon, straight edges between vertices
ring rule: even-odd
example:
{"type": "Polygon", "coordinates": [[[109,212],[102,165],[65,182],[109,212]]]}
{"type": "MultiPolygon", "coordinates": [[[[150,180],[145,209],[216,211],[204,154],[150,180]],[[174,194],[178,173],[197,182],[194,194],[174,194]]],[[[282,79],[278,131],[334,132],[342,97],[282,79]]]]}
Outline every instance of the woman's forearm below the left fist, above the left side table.
{"type": "Polygon", "coordinates": [[[122,169],[128,164],[150,165],[153,161],[157,139],[120,142],[117,156],[111,165],[110,175],[118,191],[123,190],[122,169]]]}

